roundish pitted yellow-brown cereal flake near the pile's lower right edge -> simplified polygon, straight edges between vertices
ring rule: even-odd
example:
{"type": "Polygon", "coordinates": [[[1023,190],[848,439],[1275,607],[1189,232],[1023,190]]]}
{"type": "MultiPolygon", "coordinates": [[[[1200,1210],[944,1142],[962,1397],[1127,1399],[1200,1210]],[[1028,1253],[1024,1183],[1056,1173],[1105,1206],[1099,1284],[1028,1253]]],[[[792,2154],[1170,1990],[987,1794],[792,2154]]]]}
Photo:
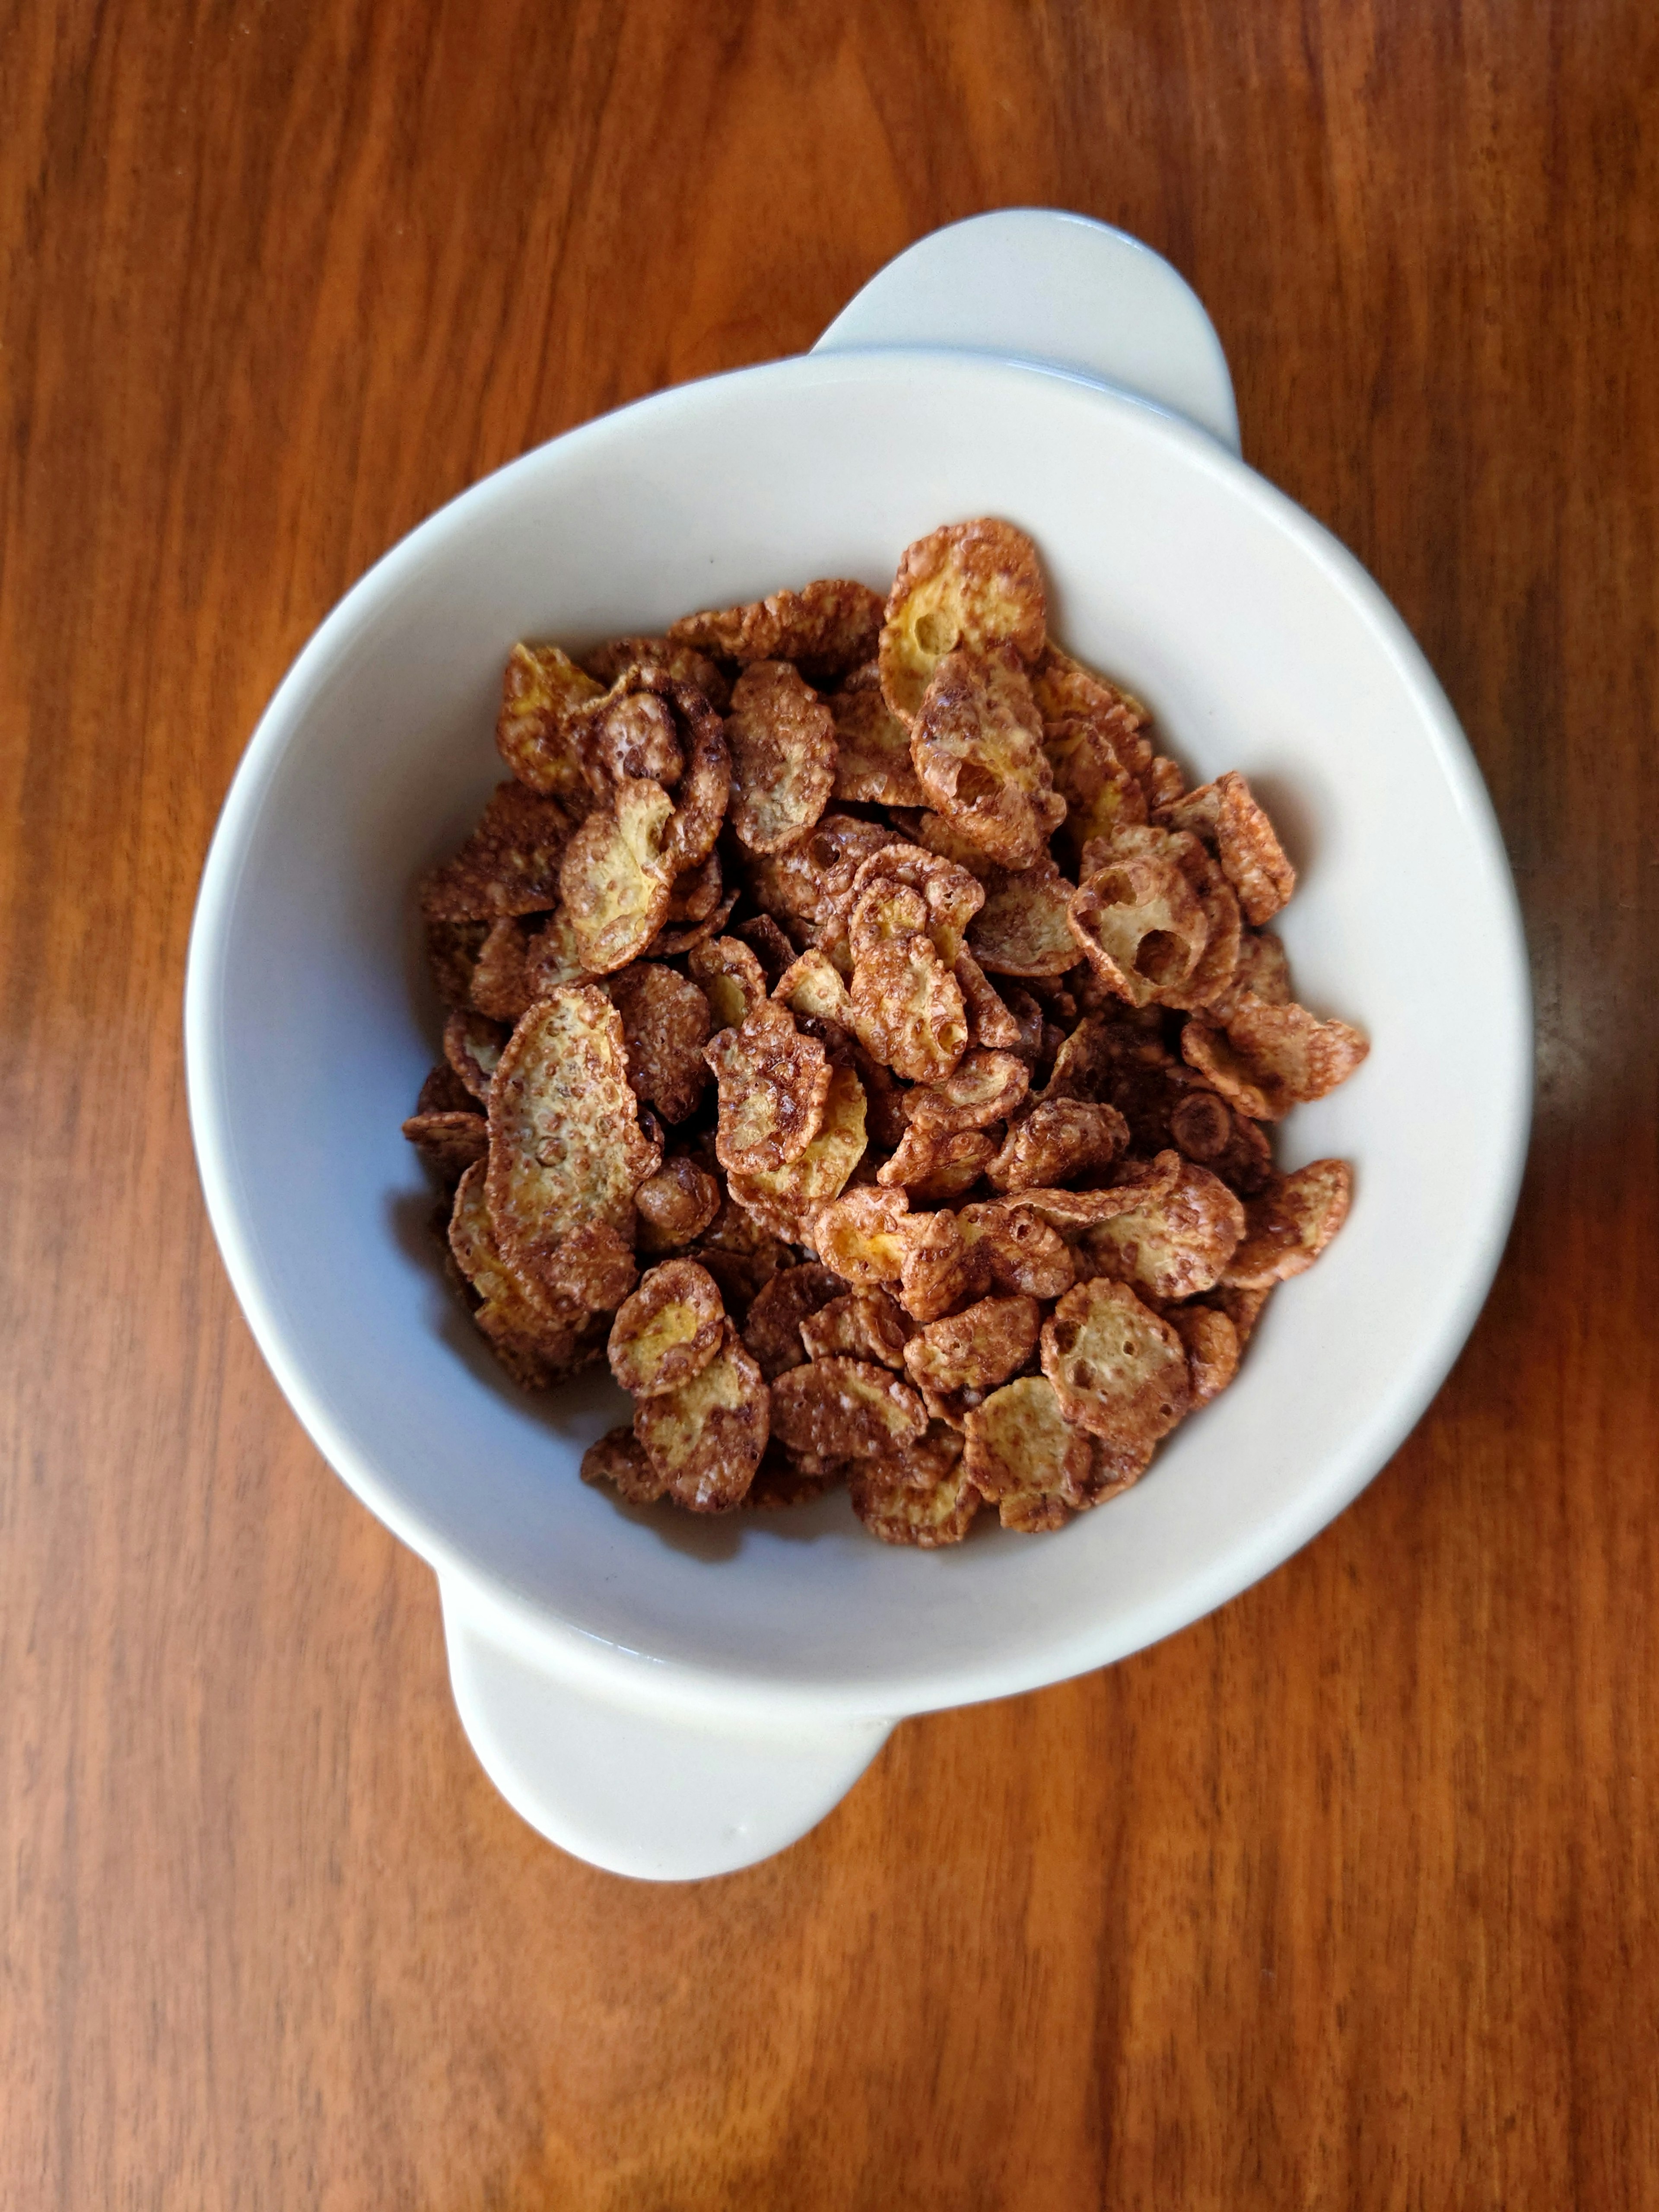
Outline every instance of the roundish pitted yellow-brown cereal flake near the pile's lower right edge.
{"type": "Polygon", "coordinates": [[[1042,1325],[1042,1371],[1060,1411],[1130,1451],[1150,1449],[1190,1405],[1186,1345],[1128,1283],[1077,1283],[1042,1325]]]}

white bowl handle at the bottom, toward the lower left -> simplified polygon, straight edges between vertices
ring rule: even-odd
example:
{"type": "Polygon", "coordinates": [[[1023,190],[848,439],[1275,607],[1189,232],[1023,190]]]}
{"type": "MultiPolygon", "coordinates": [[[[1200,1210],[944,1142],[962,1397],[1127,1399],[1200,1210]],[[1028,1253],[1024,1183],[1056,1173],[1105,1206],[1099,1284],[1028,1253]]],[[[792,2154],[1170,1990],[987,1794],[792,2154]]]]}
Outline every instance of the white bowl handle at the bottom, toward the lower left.
{"type": "Polygon", "coordinates": [[[533,1829],[611,1874],[692,1882],[770,1858],[841,1803],[894,1725],[750,1728],[624,1701],[509,1648],[453,1575],[438,1590],[484,1774],[533,1829]]]}

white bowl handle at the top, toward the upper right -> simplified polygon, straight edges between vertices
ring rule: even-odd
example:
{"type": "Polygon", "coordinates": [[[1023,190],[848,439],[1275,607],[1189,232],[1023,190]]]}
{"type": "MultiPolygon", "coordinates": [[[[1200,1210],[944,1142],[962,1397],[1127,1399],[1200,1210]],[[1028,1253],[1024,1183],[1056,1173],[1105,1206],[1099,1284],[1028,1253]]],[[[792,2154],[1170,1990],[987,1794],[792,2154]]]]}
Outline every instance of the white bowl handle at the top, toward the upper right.
{"type": "Polygon", "coordinates": [[[1239,451],[1228,356],[1186,276],[1126,230],[1057,208],[998,208],[933,230],[812,347],[949,345],[1068,369],[1239,451]]]}

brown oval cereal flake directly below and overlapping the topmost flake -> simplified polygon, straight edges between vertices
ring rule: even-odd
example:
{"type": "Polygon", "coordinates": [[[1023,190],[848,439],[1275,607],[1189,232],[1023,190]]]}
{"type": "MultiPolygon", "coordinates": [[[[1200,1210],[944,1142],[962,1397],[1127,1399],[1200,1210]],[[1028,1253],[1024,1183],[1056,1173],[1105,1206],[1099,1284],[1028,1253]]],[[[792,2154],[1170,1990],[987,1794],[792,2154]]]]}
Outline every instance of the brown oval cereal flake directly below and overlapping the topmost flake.
{"type": "Polygon", "coordinates": [[[1066,818],[1031,681],[1006,648],[945,655],[909,752],[929,807],[1000,867],[1031,867],[1066,818]]]}

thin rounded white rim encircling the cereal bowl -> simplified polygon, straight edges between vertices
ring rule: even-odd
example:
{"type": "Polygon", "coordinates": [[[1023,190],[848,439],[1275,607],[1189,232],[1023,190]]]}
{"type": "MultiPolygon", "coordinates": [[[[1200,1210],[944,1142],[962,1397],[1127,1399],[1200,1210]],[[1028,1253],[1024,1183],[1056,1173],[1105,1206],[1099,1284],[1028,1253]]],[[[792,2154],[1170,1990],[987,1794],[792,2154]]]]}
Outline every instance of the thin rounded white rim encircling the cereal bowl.
{"type": "Polygon", "coordinates": [[[1345,1511],[1394,1458],[1462,1352],[1509,1239],[1526,1164],[1533,1104],[1533,1004],[1526,940],[1498,818],[1444,690],[1376,580],[1314,515],[1181,416],[1071,369],[927,345],[801,354],[648,394],[515,456],[447,500],[383,553],[299,650],[237,763],[208,847],[190,927],[184,1033],[197,1168],[230,1287],[279,1389],[330,1467],[396,1537],[438,1573],[447,1593],[465,1593],[465,1608],[480,1617],[487,1615],[491,1626],[531,1655],[535,1663],[571,1681],[584,1681],[653,1705],[672,1703],[688,1712],[748,1714],[750,1719],[776,1719],[785,1712],[818,1721],[896,1717],[1066,1681],[1110,1666],[1128,1652],[1190,1626],[1290,1559],[1345,1511]],[[1018,1652],[1002,1659],[991,1652],[971,1666],[938,1668],[918,1661],[916,1668],[887,1670],[883,1677],[847,1672],[836,1679],[785,1683],[761,1679],[734,1663],[659,1659],[573,1626],[531,1593],[513,1588],[493,1568],[467,1557],[465,1548],[449,1535],[429,1526],[400,1491],[396,1475],[383,1471],[341,1433],[325,1394],[312,1385],[303,1358],[288,1340],[279,1303],[263,1276],[257,1241],[248,1228],[246,1194],[234,1170],[234,1146],[223,1110],[221,1033],[215,1009],[223,984],[226,922],[283,752],[336,661],[352,650],[358,626],[398,593],[405,573],[427,557],[436,540],[462,518],[487,509],[491,500],[502,495],[511,478],[531,471],[555,447],[591,447],[626,438],[637,418],[706,405],[712,392],[752,389],[757,378],[812,387],[916,376],[927,376],[936,387],[942,380],[991,378],[1006,385],[1015,403],[1037,378],[1046,385],[1075,387],[1086,407],[1110,416],[1128,414],[1141,436],[1177,447],[1188,465],[1197,462],[1221,480],[1230,495],[1243,495],[1265,509],[1270,520],[1290,531],[1314,564],[1325,571],[1332,586],[1356,606],[1376,633],[1378,646],[1394,661],[1402,688],[1411,695],[1464,827],[1482,849],[1493,878],[1498,894],[1493,922],[1502,931],[1502,945],[1495,947],[1495,953],[1509,971],[1502,1009],[1509,1068],[1500,1093],[1502,1128],[1493,1130],[1486,1155],[1484,1203],[1473,1217],[1462,1274],[1455,1283],[1455,1296],[1444,1307],[1440,1332],[1425,1338],[1416,1360],[1396,1378],[1371,1422],[1354,1431],[1340,1453],[1321,1462],[1321,1480],[1310,1480],[1285,1511],[1256,1524],[1250,1537],[1183,1579],[1166,1599],[1121,1608],[1097,1626],[1055,1632],[1048,1639],[1026,1637],[1018,1652]]]}

